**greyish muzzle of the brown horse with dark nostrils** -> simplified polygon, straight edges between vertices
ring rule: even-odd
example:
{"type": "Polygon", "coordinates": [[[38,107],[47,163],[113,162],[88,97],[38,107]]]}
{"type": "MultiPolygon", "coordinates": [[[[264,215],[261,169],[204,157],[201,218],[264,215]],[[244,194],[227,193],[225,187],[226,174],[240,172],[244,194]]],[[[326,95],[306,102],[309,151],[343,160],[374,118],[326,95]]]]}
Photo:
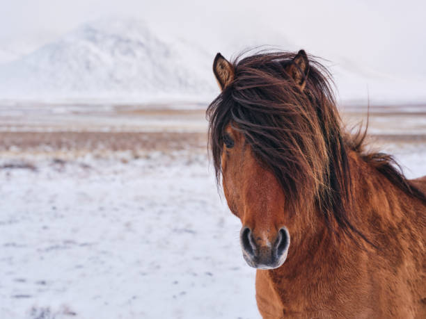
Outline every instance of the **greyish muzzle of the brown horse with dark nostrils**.
{"type": "Polygon", "coordinates": [[[286,227],[278,231],[274,243],[256,240],[249,227],[243,227],[240,234],[243,256],[249,266],[258,269],[275,269],[283,265],[290,246],[290,234],[286,227]]]}

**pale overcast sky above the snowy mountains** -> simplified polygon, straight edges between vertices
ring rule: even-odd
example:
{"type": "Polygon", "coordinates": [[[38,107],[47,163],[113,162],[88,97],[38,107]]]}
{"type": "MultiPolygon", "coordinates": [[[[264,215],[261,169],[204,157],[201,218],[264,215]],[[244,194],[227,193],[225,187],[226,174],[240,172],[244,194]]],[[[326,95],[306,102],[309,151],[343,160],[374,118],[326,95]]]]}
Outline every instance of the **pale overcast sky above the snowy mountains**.
{"type": "Polygon", "coordinates": [[[278,44],[331,60],[356,60],[388,73],[426,75],[424,0],[0,2],[0,47],[31,38],[41,44],[93,19],[129,16],[228,56],[235,53],[229,44],[278,44]]]}

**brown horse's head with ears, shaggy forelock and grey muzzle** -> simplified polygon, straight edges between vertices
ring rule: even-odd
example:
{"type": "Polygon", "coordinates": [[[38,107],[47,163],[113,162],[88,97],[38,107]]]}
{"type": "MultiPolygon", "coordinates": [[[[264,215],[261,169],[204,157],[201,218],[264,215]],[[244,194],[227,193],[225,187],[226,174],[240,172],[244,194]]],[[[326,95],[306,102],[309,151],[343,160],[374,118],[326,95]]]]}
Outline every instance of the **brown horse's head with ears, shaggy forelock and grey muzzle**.
{"type": "MultiPolygon", "coordinates": [[[[244,259],[254,268],[283,265],[290,238],[300,243],[319,222],[331,224],[329,215],[317,218],[318,207],[340,213],[345,198],[342,184],[333,183],[345,169],[340,123],[318,65],[303,50],[238,63],[214,59],[221,94],[207,110],[210,147],[230,211],[242,221],[244,259]]],[[[339,217],[345,226],[344,212],[339,217]]]]}

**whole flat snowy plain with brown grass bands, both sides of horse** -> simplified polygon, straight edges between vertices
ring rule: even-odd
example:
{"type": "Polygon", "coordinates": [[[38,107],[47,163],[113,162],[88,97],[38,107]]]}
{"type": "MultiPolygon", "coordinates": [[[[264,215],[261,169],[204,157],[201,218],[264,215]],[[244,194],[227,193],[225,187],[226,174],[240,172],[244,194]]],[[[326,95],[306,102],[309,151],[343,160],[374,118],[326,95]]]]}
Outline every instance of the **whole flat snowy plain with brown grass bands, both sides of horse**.
{"type": "MultiPolygon", "coordinates": [[[[260,318],[203,112],[13,110],[0,108],[0,318],[260,318]]],[[[418,112],[370,122],[409,177],[426,174],[418,112]]]]}

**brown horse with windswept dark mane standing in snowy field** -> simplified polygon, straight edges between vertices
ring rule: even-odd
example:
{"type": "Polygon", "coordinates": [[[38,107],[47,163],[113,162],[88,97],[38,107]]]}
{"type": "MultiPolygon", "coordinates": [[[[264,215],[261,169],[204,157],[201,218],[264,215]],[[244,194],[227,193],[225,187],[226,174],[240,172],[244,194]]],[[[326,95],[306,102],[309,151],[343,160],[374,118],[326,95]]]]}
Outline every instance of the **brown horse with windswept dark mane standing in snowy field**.
{"type": "Polygon", "coordinates": [[[210,149],[262,316],[426,318],[426,177],[342,129],[329,73],[303,50],[213,68],[210,149]]]}

